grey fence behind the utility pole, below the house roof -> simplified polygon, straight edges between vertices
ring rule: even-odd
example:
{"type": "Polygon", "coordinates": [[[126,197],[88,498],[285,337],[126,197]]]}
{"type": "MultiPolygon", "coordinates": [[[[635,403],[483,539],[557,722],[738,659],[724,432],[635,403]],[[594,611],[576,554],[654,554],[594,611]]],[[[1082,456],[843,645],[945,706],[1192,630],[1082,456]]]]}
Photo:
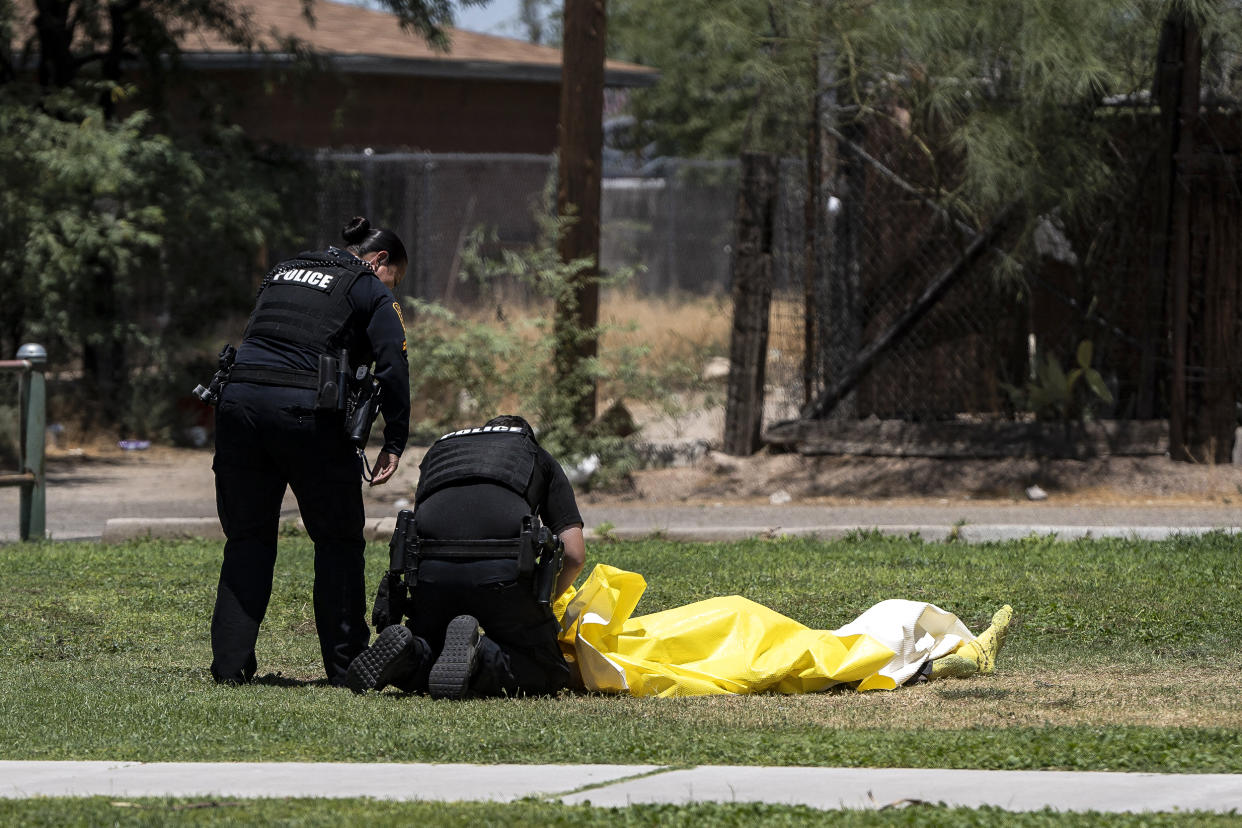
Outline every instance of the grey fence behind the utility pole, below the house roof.
{"type": "MultiPolygon", "coordinates": [[[[544,155],[325,154],[318,235],[307,243],[338,243],[333,228],[363,212],[405,242],[407,294],[468,304],[478,297],[461,278],[472,232],[488,231],[484,254],[537,243],[555,170],[544,155]]],[[[642,175],[605,178],[601,266],[632,271],[642,293],[727,290],[735,191],[730,161],[669,159],[642,175]]]]}

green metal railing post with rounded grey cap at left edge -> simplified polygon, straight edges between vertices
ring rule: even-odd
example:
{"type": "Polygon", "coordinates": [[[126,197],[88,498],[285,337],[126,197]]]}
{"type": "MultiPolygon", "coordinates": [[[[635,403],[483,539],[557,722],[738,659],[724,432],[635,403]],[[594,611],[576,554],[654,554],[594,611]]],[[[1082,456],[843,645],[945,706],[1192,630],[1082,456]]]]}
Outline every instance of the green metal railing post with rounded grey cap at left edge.
{"type": "Polygon", "coordinates": [[[19,434],[19,472],[0,473],[0,487],[21,487],[22,540],[40,540],[47,534],[47,474],[45,438],[47,432],[47,382],[43,370],[47,350],[26,344],[17,349],[16,360],[0,361],[0,371],[20,371],[21,426],[19,434]]]}

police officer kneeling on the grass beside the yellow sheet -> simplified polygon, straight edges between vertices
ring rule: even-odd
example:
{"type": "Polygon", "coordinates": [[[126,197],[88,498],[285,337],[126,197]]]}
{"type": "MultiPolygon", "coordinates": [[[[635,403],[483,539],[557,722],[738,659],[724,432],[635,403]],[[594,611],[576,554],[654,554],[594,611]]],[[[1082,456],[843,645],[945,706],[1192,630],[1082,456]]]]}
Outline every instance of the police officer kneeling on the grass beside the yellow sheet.
{"type": "Polygon", "coordinates": [[[419,468],[375,598],[380,636],[350,664],[349,688],[461,699],[566,686],[551,603],[585,545],[564,469],[512,415],[445,434],[419,468]]]}

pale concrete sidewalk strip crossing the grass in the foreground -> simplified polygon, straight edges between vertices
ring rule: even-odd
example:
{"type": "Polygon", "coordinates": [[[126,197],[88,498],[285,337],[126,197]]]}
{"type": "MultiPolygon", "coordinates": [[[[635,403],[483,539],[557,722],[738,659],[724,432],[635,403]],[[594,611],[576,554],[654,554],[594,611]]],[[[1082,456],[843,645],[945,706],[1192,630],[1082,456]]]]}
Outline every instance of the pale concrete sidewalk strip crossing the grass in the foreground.
{"type": "Polygon", "coordinates": [[[1006,811],[1242,811],[1242,775],[655,765],[0,761],[0,797],[373,797],[625,807],[766,802],[820,809],[944,803],[1006,811]]]}

